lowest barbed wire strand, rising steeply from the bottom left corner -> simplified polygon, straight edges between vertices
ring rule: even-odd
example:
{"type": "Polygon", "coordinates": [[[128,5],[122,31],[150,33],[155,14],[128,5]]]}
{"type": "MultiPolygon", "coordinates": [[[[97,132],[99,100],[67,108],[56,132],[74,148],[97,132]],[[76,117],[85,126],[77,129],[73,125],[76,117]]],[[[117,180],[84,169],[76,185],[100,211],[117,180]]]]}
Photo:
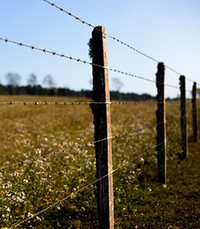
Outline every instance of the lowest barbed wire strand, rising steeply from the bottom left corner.
{"type": "Polygon", "coordinates": [[[85,189],[88,189],[89,187],[92,187],[92,186],[93,186],[94,184],[96,184],[97,182],[99,182],[99,181],[103,180],[104,178],[110,176],[111,174],[117,172],[118,170],[122,169],[123,167],[127,166],[128,164],[133,163],[134,161],[137,161],[137,160],[140,159],[143,155],[145,155],[145,154],[151,152],[152,150],[156,149],[156,147],[158,147],[159,145],[161,145],[161,144],[163,144],[163,143],[164,143],[164,142],[161,142],[161,143],[159,143],[158,145],[156,145],[156,146],[152,147],[151,149],[149,149],[148,151],[145,151],[145,152],[141,153],[139,156],[137,156],[136,158],[132,159],[131,161],[126,161],[124,164],[120,165],[119,167],[117,167],[116,169],[112,170],[112,171],[109,172],[108,174],[106,174],[106,175],[104,175],[104,176],[102,176],[102,177],[96,179],[95,181],[93,181],[93,182],[87,184],[86,186],[84,186],[83,188],[81,188],[81,189],[79,189],[79,190],[77,190],[77,191],[71,193],[70,195],[66,196],[65,198],[63,198],[63,199],[61,199],[61,200],[58,200],[57,202],[51,204],[50,206],[48,206],[48,207],[46,207],[45,209],[43,209],[43,210],[37,212],[36,214],[34,214],[34,215],[32,215],[32,216],[30,216],[30,217],[28,217],[28,218],[22,220],[21,222],[15,224],[15,225],[13,225],[13,226],[11,226],[11,228],[16,228],[16,227],[18,227],[18,226],[24,224],[25,222],[27,222],[27,221],[29,221],[29,220],[35,218],[36,216],[38,216],[38,215],[40,215],[40,214],[46,212],[47,210],[49,210],[49,209],[51,209],[51,208],[53,208],[53,207],[55,207],[55,206],[61,204],[62,202],[64,202],[64,201],[67,200],[68,198],[70,198],[70,197],[72,198],[73,196],[76,196],[78,193],[84,191],[85,189]]]}

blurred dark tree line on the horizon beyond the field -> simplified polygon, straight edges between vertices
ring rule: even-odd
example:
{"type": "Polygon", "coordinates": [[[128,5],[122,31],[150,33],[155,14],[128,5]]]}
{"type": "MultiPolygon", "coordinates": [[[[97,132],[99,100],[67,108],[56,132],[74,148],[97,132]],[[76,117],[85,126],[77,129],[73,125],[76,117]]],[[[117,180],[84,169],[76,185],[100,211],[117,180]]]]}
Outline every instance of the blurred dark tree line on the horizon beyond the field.
{"type": "MultiPolygon", "coordinates": [[[[19,74],[8,73],[6,75],[7,85],[0,84],[0,95],[45,95],[45,96],[66,96],[66,97],[85,97],[92,98],[92,91],[80,90],[75,91],[69,88],[56,88],[54,79],[51,75],[44,77],[42,83],[44,86],[38,84],[37,76],[31,74],[27,80],[27,86],[20,86],[21,77],[19,74]]],[[[154,96],[149,94],[136,94],[136,93],[122,93],[119,92],[123,86],[120,80],[113,79],[115,84],[115,91],[111,91],[111,100],[126,100],[126,101],[144,101],[155,100],[154,96]]],[[[200,97],[200,88],[197,89],[197,95],[200,97]]]]}

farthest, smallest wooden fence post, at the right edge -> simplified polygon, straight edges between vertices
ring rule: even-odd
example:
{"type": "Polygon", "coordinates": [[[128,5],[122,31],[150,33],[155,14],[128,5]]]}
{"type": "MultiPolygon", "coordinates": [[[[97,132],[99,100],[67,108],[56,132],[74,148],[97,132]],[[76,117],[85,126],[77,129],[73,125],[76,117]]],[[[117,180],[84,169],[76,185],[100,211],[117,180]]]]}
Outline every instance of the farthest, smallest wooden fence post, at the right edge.
{"type": "Polygon", "coordinates": [[[197,142],[197,84],[194,82],[192,88],[192,115],[193,115],[193,141],[197,142]]]}

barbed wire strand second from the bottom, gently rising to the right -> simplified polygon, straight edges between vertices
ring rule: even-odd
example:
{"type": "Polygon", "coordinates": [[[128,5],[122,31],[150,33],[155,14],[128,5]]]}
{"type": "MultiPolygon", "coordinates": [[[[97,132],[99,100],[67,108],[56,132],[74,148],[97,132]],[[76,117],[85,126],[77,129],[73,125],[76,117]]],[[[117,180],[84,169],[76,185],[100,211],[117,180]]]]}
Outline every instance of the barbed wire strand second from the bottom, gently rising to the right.
{"type": "MultiPolygon", "coordinates": [[[[159,123],[159,124],[161,124],[161,123],[159,123]]],[[[45,159],[45,158],[50,157],[52,155],[56,155],[56,154],[60,154],[60,153],[66,153],[69,150],[75,150],[75,149],[78,149],[78,148],[81,148],[81,147],[92,146],[92,145],[95,145],[97,143],[109,140],[109,139],[120,138],[120,137],[125,137],[125,136],[128,136],[128,135],[132,135],[134,133],[140,132],[140,131],[145,130],[147,128],[156,127],[156,125],[158,125],[158,124],[154,123],[154,124],[146,125],[145,127],[138,128],[138,129],[133,130],[131,132],[126,132],[126,133],[123,133],[123,134],[118,134],[118,135],[115,135],[115,136],[111,136],[111,137],[108,137],[108,138],[103,138],[103,139],[96,140],[96,141],[93,141],[93,142],[88,142],[88,143],[85,143],[85,144],[76,145],[76,146],[73,146],[73,147],[69,147],[68,149],[59,150],[57,152],[54,151],[54,152],[51,152],[51,153],[48,153],[48,154],[45,154],[45,155],[42,155],[42,156],[39,156],[39,157],[34,157],[34,158],[31,158],[31,159],[26,159],[24,161],[20,161],[20,162],[16,162],[16,163],[13,163],[13,164],[5,165],[5,166],[1,167],[0,170],[4,170],[6,168],[12,168],[12,167],[18,166],[18,165],[23,165],[25,163],[30,163],[30,162],[33,162],[33,161],[36,161],[36,160],[39,160],[39,159],[45,159]]]]}

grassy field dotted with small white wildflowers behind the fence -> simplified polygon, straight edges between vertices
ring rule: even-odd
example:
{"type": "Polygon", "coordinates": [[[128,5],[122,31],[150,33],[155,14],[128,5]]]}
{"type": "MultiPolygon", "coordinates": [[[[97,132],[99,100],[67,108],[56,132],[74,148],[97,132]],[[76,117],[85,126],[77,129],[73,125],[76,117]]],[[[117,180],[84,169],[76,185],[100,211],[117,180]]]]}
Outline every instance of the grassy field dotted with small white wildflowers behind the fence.
{"type": "MultiPolygon", "coordinates": [[[[0,98],[0,102],[71,100],[0,98]]],[[[115,228],[200,228],[200,143],[192,142],[188,101],[189,157],[181,159],[179,106],[179,102],[167,104],[168,178],[167,185],[161,185],[152,149],[156,128],[146,127],[156,122],[156,104],[112,105],[112,135],[144,128],[112,141],[113,168],[130,162],[113,174],[115,228]],[[131,162],[143,152],[142,158],[131,162]]],[[[0,228],[33,216],[96,179],[94,147],[76,147],[94,140],[89,106],[0,105],[0,117],[0,228]],[[46,154],[50,156],[42,157],[46,154]],[[25,162],[8,166],[20,161],[25,162]]],[[[94,185],[18,228],[97,228],[95,193],[94,185]]]]}

